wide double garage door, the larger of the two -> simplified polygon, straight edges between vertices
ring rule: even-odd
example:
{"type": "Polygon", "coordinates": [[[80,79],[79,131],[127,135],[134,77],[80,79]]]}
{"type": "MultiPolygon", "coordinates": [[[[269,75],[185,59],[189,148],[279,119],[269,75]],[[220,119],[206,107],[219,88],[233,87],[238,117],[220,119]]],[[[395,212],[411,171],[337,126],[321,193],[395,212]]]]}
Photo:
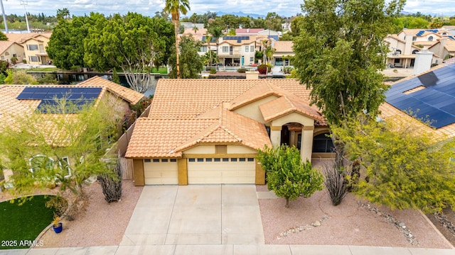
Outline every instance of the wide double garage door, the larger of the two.
{"type": "Polygon", "coordinates": [[[188,183],[255,183],[255,158],[188,159],[188,183]]]}

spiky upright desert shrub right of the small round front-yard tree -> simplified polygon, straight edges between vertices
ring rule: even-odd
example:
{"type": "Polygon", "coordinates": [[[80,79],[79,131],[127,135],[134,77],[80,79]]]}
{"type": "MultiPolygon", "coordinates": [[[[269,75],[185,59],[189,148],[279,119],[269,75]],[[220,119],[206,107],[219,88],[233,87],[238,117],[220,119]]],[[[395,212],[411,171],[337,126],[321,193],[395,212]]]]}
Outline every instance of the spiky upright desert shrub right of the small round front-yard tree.
{"type": "Polygon", "coordinates": [[[326,177],[324,184],[332,205],[339,205],[348,193],[348,182],[343,177],[345,176],[343,169],[338,168],[336,164],[324,164],[322,172],[326,177]]]}

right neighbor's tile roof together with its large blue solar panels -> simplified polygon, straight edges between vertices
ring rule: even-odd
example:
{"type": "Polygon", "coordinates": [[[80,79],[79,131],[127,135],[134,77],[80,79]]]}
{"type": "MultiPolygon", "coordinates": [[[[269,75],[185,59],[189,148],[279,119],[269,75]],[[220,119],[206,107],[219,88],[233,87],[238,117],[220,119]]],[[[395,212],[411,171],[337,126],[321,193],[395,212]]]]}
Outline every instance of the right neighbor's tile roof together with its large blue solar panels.
{"type": "Polygon", "coordinates": [[[415,132],[433,132],[438,139],[455,137],[455,58],[396,81],[385,95],[381,118],[414,123],[415,132]]]}

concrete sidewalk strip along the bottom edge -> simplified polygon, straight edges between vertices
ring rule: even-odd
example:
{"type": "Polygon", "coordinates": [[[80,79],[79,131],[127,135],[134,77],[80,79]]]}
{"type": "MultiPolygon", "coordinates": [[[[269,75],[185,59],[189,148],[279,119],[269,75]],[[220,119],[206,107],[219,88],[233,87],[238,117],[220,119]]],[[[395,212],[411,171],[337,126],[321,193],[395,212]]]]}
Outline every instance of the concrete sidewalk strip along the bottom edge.
{"type": "Polygon", "coordinates": [[[50,249],[0,250],[11,255],[454,255],[454,249],[419,249],[372,246],[264,245],[264,244],[196,244],[96,246],[50,249]]]}

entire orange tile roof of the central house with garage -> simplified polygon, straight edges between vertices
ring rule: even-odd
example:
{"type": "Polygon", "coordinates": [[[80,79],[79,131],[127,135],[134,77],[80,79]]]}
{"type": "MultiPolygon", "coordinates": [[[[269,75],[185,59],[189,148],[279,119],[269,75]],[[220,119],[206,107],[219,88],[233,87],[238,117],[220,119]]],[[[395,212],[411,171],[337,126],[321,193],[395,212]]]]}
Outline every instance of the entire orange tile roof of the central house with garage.
{"type": "Polygon", "coordinates": [[[200,144],[271,146],[263,123],[233,111],[272,95],[278,99],[269,102],[267,117],[295,111],[326,125],[296,79],[160,79],[149,117],[137,120],[125,157],[181,157],[200,144]]]}

